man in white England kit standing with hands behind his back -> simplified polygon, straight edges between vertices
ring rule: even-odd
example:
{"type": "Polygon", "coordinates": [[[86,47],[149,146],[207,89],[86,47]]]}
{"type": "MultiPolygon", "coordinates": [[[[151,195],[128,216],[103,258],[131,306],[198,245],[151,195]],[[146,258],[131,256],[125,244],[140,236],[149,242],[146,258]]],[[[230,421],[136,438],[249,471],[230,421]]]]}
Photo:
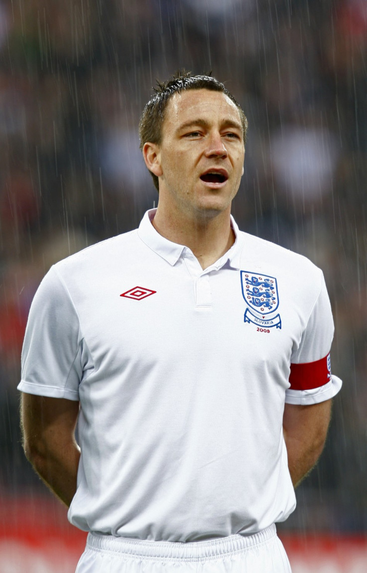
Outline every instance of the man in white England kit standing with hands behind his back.
{"type": "Polygon", "coordinates": [[[78,573],[290,571],[274,524],[341,380],[322,272],[231,218],[246,129],[214,78],[159,84],[140,121],[157,209],[35,295],[24,447],[90,532],[78,573]]]}

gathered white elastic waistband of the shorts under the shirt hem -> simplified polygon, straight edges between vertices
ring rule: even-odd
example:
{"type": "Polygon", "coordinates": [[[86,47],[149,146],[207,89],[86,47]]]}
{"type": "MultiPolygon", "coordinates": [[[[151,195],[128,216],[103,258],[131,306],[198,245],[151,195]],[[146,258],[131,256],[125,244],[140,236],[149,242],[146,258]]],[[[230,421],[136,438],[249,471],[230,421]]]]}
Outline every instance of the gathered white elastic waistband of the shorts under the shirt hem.
{"type": "Polygon", "coordinates": [[[230,535],[194,543],[147,541],[90,532],[86,540],[86,549],[131,557],[139,556],[148,560],[200,561],[244,553],[258,545],[269,543],[274,537],[277,537],[275,525],[270,525],[253,535],[230,535]]]}

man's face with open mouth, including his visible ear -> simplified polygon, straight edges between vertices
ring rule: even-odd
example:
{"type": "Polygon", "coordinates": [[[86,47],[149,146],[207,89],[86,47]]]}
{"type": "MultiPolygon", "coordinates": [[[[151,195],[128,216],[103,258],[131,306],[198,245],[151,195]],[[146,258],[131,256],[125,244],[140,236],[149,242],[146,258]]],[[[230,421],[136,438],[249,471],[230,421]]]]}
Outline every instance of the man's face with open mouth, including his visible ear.
{"type": "Polygon", "coordinates": [[[194,217],[230,211],[243,175],[244,143],[240,113],[224,93],[200,89],[173,95],[160,145],[144,147],[165,207],[194,217]]]}

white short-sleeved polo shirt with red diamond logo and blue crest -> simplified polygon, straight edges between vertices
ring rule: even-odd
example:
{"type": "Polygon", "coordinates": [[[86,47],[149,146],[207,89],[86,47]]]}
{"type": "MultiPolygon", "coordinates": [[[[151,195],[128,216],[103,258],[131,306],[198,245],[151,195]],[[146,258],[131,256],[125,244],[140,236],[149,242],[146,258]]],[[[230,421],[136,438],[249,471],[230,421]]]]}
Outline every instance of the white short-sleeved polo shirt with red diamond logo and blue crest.
{"type": "Polygon", "coordinates": [[[80,401],[77,527],[165,541],[255,533],[295,507],[285,402],[341,386],[322,272],[233,219],[235,244],[202,270],[154,214],[46,274],[18,388],[80,401]]]}

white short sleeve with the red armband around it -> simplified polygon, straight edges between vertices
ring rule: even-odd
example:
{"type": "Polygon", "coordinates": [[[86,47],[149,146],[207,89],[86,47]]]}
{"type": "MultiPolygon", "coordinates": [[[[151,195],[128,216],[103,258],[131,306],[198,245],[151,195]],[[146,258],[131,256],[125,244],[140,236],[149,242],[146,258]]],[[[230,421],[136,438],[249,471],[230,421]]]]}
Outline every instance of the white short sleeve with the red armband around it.
{"type": "Polygon", "coordinates": [[[286,403],[309,405],[333,398],[342,386],[340,378],[332,374],[330,347],[334,322],[325,280],[321,274],[321,288],[302,332],[301,342],[291,356],[290,388],[286,403]]]}

